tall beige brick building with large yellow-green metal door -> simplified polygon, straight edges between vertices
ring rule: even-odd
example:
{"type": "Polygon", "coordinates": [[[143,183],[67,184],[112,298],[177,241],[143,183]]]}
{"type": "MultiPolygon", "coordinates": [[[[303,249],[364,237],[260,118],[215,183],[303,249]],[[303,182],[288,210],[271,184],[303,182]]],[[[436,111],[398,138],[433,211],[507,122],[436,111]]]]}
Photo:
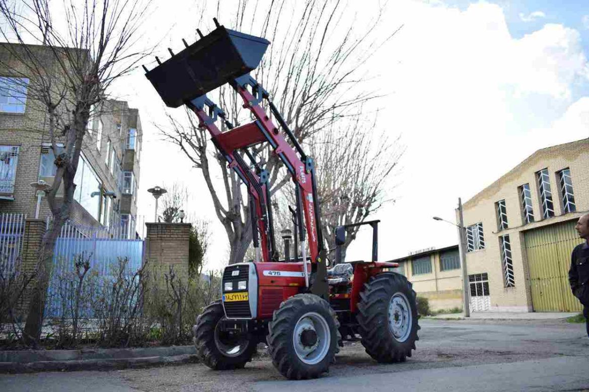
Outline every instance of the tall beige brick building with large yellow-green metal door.
{"type": "Polygon", "coordinates": [[[463,210],[471,310],[581,310],[568,268],[589,210],[589,139],[534,152],[463,210]]]}

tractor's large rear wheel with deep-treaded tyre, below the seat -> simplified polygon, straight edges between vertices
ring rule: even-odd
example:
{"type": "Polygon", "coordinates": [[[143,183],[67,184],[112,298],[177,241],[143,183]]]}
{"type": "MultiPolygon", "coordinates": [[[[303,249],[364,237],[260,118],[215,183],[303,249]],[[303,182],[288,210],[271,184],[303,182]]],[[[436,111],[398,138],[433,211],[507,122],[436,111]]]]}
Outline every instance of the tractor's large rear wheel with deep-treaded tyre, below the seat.
{"type": "Polygon", "coordinates": [[[358,324],[362,346],[379,362],[404,362],[419,340],[416,294],[400,274],[370,278],[360,293],[358,324]]]}

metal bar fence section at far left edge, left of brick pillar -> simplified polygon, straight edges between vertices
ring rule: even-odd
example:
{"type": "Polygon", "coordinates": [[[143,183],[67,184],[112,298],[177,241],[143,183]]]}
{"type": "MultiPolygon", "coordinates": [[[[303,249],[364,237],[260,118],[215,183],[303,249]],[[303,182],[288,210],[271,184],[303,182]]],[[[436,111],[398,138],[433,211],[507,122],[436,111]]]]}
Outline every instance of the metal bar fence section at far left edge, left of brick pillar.
{"type": "Polygon", "coordinates": [[[24,214],[0,214],[0,271],[14,273],[21,261],[24,214]]]}

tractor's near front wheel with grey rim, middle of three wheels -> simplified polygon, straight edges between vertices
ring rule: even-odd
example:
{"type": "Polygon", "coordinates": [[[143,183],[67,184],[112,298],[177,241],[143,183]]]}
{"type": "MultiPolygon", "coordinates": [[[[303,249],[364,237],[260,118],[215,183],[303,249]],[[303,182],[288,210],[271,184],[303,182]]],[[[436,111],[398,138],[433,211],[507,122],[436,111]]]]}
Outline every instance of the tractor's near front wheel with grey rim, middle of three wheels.
{"type": "Polygon", "coordinates": [[[329,371],[339,351],[335,311],[314,294],[293,295],[274,311],[267,343],[272,363],[291,380],[317,378],[329,371]]]}

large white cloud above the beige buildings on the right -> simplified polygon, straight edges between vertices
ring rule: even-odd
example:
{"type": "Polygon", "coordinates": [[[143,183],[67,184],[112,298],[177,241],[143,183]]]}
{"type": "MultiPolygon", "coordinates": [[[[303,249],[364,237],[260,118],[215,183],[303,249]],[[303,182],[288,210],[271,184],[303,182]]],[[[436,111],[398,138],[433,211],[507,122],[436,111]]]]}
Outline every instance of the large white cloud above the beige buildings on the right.
{"type": "Polygon", "coordinates": [[[547,24],[514,38],[501,7],[484,2],[405,2],[395,13],[405,26],[382,59],[394,92],[385,110],[408,150],[397,202],[378,216],[391,238],[382,257],[456,243],[455,228],[432,216],[453,220],[458,197],[538,148],[589,136],[589,98],[571,99],[589,75],[578,31],[547,24]]]}

